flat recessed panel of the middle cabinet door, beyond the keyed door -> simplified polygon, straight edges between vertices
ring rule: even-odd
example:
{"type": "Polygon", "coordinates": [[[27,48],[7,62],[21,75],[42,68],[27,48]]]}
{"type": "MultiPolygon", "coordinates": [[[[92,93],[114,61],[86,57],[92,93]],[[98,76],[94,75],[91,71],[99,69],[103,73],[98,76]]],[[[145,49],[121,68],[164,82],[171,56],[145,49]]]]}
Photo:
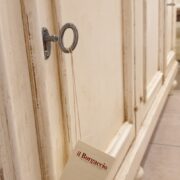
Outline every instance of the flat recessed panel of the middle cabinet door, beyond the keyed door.
{"type": "Polygon", "coordinates": [[[146,81],[153,80],[159,62],[159,1],[148,0],[146,5],[146,81]]]}

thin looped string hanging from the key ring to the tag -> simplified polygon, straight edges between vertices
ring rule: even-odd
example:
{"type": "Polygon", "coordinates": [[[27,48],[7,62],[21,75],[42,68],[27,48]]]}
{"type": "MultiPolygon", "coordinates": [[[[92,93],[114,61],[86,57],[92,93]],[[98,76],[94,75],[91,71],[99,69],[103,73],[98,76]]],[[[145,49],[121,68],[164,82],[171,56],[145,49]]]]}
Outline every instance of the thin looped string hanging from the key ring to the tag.
{"type": "Polygon", "coordinates": [[[75,127],[76,139],[78,139],[78,132],[79,132],[79,138],[81,139],[81,122],[80,122],[80,113],[79,113],[79,105],[78,105],[76,77],[74,71],[74,59],[71,48],[69,48],[69,52],[71,54],[71,71],[72,71],[72,81],[73,81],[73,103],[74,103],[74,116],[76,122],[76,127],[75,127]]]}

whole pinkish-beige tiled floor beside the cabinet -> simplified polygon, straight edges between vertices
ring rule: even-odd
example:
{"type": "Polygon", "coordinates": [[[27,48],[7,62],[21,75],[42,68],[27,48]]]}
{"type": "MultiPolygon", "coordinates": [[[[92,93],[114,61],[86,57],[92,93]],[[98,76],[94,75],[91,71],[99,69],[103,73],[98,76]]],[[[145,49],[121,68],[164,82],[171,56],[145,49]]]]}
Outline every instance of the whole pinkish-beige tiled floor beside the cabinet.
{"type": "Polygon", "coordinates": [[[180,180],[180,90],[169,96],[143,161],[143,180],[180,180]]]}

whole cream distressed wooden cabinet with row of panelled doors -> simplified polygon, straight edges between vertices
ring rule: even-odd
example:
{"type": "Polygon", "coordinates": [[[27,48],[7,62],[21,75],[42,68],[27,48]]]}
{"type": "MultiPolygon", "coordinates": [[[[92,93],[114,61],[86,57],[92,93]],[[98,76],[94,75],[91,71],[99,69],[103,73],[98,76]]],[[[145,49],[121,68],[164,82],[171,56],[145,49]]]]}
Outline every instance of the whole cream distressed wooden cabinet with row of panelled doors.
{"type": "MultiPolygon", "coordinates": [[[[0,169],[12,172],[4,179],[60,179],[81,140],[115,157],[112,179],[132,180],[177,71],[174,7],[164,0],[3,1],[0,169]],[[51,43],[45,60],[42,28],[58,34],[68,22],[79,32],[76,49],[65,54],[51,43]]],[[[71,41],[67,31],[64,43],[71,41]]]]}

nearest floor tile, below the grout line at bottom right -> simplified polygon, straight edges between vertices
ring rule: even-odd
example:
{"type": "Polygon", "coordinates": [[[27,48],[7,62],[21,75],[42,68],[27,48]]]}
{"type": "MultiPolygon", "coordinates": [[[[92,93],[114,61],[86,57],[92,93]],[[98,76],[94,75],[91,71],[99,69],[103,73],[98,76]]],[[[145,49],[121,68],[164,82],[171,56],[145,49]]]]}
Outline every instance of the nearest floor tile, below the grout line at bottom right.
{"type": "Polygon", "coordinates": [[[180,180],[180,148],[151,145],[143,180],[180,180]]]}

